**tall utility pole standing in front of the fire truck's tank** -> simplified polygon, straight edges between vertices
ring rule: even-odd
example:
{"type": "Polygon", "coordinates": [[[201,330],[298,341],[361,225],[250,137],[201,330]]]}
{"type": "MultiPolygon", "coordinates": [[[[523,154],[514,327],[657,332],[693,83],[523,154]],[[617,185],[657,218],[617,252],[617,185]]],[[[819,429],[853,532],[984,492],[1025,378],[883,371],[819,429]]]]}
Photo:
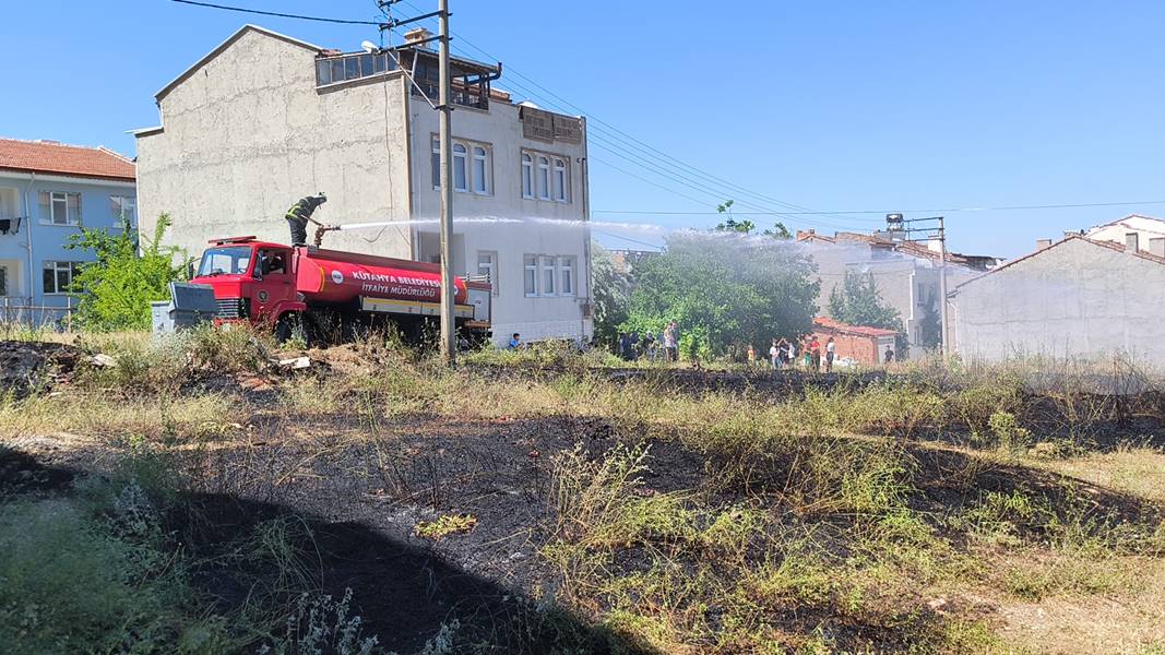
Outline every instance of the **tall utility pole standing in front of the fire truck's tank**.
{"type": "Polygon", "coordinates": [[[453,143],[452,90],[449,73],[449,0],[438,0],[440,16],[440,357],[447,365],[457,361],[453,316],[453,143]]]}

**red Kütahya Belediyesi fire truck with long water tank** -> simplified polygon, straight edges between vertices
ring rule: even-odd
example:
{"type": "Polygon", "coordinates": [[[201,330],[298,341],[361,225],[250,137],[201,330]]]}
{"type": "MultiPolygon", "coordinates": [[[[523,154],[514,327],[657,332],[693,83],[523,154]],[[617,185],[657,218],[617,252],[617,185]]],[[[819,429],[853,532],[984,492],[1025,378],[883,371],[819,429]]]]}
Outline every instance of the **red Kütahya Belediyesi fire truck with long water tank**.
{"type": "MultiPolygon", "coordinates": [[[[213,321],[247,321],[273,329],[280,339],[290,337],[296,325],[303,325],[308,334],[343,338],[386,321],[410,333],[440,316],[438,265],[284,246],[254,237],[210,244],[196,276],[182,286],[182,294],[176,289],[171,317],[175,312],[189,316],[195,309],[182,296],[200,294],[206,305],[207,289],[213,291],[213,308],[206,308],[213,310],[213,321]]],[[[489,282],[456,277],[454,284],[461,337],[469,341],[488,338],[489,282]]]]}

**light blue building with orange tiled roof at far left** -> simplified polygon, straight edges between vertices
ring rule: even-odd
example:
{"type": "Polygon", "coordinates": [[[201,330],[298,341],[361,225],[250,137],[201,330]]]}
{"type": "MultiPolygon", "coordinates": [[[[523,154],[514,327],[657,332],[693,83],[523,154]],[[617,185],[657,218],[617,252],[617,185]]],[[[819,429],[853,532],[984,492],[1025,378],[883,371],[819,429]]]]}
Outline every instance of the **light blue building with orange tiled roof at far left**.
{"type": "Polygon", "coordinates": [[[93,253],[82,226],[137,225],[134,162],[106,148],[0,139],[0,321],[43,323],[77,304],[69,284],[93,253]]]}

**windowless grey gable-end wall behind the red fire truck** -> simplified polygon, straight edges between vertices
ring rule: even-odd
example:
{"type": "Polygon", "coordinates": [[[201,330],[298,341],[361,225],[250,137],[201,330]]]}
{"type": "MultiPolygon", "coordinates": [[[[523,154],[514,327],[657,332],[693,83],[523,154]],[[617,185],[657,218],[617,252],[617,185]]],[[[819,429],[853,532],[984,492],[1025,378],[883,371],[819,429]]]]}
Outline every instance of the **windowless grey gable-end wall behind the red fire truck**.
{"type": "MultiPolygon", "coordinates": [[[[400,72],[316,87],[316,51],[248,30],[161,101],[163,132],[137,139],[139,211],[169,212],[168,245],[197,256],[214,237],[288,242],[283,214],[324,191],[324,223],[409,218],[400,72]],[[387,78],[387,79],[386,79],[387,78]]],[[[407,227],[331,233],[329,247],[410,256],[407,227]]]]}

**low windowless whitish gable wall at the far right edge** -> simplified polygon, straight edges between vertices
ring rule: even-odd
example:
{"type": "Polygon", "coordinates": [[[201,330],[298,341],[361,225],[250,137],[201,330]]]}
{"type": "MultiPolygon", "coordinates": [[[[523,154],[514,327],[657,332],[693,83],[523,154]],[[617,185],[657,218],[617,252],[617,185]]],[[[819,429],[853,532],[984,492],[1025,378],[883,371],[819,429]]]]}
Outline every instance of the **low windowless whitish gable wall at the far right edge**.
{"type": "Polygon", "coordinates": [[[1165,367],[1165,265],[1067,239],[958,288],[952,322],[969,359],[1125,352],[1165,367]]]}

